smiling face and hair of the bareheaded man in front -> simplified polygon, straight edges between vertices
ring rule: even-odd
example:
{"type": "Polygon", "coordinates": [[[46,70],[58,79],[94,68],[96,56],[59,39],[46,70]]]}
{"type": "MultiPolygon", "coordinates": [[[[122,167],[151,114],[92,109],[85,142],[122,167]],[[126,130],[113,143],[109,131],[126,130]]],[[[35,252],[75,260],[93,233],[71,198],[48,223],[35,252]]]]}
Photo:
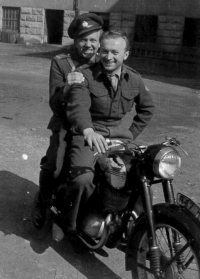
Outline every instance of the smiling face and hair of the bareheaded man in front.
{"type": "Polygon", "coordinates": [[[126,41],[122,37],[104,38],[100,43],[100,59],[104,69],[109,74],[118,73],[129,56],[126,50],[126,41]]]}

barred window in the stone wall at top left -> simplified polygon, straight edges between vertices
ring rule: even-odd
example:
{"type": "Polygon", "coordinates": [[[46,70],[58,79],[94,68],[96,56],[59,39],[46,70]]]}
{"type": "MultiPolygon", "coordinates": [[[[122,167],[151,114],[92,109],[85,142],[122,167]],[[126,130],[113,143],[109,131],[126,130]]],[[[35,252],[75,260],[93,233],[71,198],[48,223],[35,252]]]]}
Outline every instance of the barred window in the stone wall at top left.
{"type": "Polygon", "coordinates": [[[3,7],[2,30],[19,31],[20,8],[3,7]]]}

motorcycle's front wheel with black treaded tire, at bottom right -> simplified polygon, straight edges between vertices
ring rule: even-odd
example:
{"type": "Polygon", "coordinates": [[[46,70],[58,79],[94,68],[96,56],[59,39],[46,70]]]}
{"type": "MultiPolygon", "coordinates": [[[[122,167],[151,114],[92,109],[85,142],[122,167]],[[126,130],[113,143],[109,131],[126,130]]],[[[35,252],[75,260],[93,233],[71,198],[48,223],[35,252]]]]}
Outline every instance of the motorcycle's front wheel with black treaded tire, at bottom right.
{"type": "Polygon", "coordinates": [[[185,212],[184,210],[180,212],[180,210],[177,208],[169,214],[158,211],[155,214],[155,227],[156,238],[158,242],[157,244],[160,252],[161,270],[162,265],[166,264],[171,259],[170,248],[172,248],[171,251],[173,256],[175,255],[175,248],[173,246],[174,232],[178,233],[179,235],[182,245],[181,247],[183,247],[186,243],[190,243],[190,245],[181,254],[180,265],[178,265],[178,260],[175,260],[167,270],[163,271],[162,276],[154,276],[149,271],[138,267],[137,265],[137,263],[140,263],[147,268],[150,267],[147,230],[145,228],[145,222],[143,219],[143,221],[138,225],[136,233],[132,235],[129,243],[129,247],[133,247],[131,252],[132,265],[130,268],[132,278],[200,279],[200,224],[194,218],[192,218],[192,216],[190,216],[190,213],[185,212]],[[169,232],[168,235],[171,239],[171,244],[169,243],[170,241],[167,241],[166,232],[169,232]],[[185,268],[185,270],[183,268],[185,268]]]}

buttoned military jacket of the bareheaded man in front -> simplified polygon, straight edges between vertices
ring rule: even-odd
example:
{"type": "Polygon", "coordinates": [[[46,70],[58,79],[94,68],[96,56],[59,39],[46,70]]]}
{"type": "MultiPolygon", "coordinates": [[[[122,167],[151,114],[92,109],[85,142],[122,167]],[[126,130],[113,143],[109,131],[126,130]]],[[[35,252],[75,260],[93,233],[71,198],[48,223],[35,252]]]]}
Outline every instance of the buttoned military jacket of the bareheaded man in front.
{"type": "Polygon", "coordinates": [[[85,81],[74,84],[67,104],[67,118],[73,133],[86,128],[109,138],[135,139],[152,117],[154,105],[141,76],[123,65],[118,89],[114,91],[101,63],[83,70],[85,81]],[[135,104],[136,114],[129,128],[122,125],[124,116],[135,104]]]}

